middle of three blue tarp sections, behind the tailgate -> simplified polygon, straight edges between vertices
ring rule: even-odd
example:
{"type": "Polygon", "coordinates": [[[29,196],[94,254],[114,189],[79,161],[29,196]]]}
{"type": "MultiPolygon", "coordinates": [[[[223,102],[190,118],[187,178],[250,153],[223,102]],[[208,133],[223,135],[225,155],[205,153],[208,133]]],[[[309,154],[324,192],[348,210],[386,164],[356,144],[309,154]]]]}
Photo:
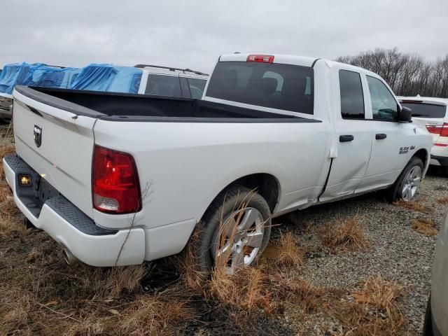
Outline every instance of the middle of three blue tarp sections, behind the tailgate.
{"type": "Polygon", "coordinates": [[[76,80],[81,69],[43,65],[34,70],[24,85],[66,89],[76,80]]]}

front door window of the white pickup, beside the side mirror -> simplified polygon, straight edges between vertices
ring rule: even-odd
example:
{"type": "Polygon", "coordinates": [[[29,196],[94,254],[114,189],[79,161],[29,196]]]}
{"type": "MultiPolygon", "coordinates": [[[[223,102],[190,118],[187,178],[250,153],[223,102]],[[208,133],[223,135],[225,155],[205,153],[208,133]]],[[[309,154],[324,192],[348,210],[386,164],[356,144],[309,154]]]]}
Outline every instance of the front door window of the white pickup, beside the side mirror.
{"type": "Polygon", "coordinates": [[[395,121],[398,120],[398,104],[381,80],[367,76],[367,83],[372,99],[373,120],[395,121]]]}

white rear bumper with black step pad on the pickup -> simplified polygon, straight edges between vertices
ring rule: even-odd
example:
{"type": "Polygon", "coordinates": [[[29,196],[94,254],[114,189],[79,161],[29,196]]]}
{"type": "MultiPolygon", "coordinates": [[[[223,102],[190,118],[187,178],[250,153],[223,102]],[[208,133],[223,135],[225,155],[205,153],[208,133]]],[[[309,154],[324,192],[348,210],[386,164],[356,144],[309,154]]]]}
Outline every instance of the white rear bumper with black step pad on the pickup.
{"type": "Polygon", "coordinates": [[[3,169],[20,211],[36,228],[47,232],[82,262],[101,267],[137,265],[143,262],[143,229],[100,228],[92,218],[40,178],[18,155],[10,154],[3,158],[3,169]],[[19,186],[18,179],[23,174],[30,175],[31,181],[37,183],[38,188],[35,184],[31,187],[19,186]],[[117,262],[118,253],[120,258],[117,262]]]}

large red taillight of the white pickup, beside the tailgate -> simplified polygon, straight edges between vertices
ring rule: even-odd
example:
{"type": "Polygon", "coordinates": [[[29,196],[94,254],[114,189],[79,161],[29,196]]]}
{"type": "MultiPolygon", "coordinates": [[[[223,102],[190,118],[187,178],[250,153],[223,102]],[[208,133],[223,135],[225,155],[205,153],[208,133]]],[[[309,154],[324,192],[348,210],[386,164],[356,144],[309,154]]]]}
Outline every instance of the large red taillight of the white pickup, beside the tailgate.
{"type": "Polygon", "coordinates": [[[92,165],[95,209],[128,214],[141,209],[139,176],[132,155],[95,146],[92,165]]]}

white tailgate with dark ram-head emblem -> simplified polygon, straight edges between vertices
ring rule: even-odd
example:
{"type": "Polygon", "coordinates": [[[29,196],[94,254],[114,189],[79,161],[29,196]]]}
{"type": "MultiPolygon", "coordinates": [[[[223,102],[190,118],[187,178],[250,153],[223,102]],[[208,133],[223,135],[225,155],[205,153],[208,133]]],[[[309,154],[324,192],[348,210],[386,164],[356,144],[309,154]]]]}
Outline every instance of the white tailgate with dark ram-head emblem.
{"type": "Polygon", "coordinates": [[[28,87],[16,87],[13,96],[16,152],[92,218],[93,127],[101,113],[95,115],[92,110],[28,87]]]}

